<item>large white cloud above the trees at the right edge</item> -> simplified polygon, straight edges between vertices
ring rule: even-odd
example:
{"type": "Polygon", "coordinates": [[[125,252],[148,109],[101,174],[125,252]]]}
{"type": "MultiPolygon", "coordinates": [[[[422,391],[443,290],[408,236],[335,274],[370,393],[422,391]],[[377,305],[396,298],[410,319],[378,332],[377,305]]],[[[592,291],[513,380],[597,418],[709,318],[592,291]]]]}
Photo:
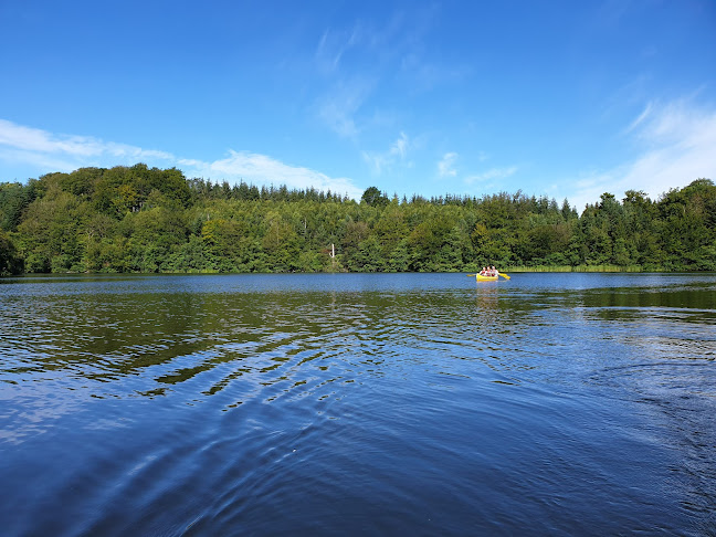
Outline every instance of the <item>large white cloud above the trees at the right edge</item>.
{"type": "Polygon", "coordinates": [[[625,134],[636,156],[613,169],[585,173],[568,199],[582,209],[603,192],[621,198],[625,190],[643,190],[652,199],[698,178],[716,177],[716,109],[688,101],[650,104],[625,134]]]}

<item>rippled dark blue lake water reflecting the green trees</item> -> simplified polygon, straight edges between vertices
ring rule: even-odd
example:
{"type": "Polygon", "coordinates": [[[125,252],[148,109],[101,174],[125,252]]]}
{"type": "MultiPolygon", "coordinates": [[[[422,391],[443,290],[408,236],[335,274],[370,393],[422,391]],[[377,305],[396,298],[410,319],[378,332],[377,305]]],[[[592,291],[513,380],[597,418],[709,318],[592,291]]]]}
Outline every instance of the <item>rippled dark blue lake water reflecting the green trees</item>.
{"type": "Polygon", "coordinates": [[[715,360],[715,274],[0,278],[0,534],[716,535],[715,360]]]}

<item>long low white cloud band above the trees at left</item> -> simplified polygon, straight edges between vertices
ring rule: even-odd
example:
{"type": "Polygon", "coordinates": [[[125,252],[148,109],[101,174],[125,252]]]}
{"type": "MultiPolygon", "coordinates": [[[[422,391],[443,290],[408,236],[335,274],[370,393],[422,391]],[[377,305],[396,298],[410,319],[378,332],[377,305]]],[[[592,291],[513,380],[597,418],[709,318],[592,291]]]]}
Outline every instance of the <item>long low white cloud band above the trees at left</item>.
{"type": "Polygon", "coordinates": [[[286,185],[299,189],[314,187],[347,193],[355,199],[361,194],[361,190],[349,178],[331,178],[310,168],[286,165],[266,155],[230,151],[227,158],[208,162],[87,136],[55,135],[6,119],[0,119],[0,161],[29,166],[41,173],[143,161],[150,166],[176,166],[189,177],[230,182],[244,180],[254,185],[286,185]]]}

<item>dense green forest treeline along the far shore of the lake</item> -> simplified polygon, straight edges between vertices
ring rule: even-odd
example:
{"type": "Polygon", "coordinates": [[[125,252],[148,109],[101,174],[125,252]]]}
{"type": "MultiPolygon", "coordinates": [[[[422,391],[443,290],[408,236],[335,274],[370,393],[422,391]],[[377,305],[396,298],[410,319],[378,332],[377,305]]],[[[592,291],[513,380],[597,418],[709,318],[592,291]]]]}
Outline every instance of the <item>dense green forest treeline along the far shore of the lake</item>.
{"type": "Polygon", "coordinates": [[[0,273],[474,271],[618,265],[716,270],[716,186],[581,214],[514,194],[388,198],[203,179],[145,165],[0,183],[0,273]],[[336,255],[330,255],[335,244],[336,255]]]}

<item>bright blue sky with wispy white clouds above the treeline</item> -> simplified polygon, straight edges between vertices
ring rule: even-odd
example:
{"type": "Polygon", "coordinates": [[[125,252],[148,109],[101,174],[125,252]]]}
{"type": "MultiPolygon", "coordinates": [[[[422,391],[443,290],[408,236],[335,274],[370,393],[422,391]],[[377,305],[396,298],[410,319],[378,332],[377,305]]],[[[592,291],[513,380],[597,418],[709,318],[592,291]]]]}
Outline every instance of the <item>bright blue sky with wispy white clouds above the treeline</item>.
{"type": "Polygon", "coordinates": [[[0,181],[146,162],[359,198],[716,179],[716,2],[0,0],[0,181]]]}

